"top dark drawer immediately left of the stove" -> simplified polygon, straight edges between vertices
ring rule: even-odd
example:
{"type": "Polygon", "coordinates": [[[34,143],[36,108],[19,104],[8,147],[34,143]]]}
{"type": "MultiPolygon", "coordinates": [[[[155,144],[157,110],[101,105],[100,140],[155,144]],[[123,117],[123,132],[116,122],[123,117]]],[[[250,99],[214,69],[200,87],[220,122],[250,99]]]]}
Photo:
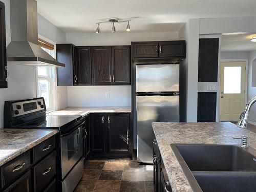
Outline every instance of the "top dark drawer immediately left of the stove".
{"type": "Polygon", "coordinates": [[[40,159],[47,156],[55,148],[56,138],[55,136],[47,139],[44,142],[41,142],[39,145],[36,145],[34,150],[34,162],[38,162],[40,159]]]}

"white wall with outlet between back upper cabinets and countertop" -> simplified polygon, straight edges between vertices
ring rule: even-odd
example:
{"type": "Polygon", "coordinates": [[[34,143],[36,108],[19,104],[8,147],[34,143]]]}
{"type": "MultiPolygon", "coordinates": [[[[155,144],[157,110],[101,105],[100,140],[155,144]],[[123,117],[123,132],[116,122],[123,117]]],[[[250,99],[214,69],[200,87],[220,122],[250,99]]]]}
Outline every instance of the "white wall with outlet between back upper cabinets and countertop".
{"type": "Polygon", "coordinates": [[[131,86],[71,86],[68,106],[131,106],[131,86]]]}

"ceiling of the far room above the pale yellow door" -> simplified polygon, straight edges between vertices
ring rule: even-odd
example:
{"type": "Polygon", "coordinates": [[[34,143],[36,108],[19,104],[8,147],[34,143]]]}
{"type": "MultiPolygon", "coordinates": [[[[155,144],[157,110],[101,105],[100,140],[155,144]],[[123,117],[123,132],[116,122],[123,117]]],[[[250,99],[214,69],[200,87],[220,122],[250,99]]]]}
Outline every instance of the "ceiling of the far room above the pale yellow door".
{"type": "Polygon", "coordinates": [[[256,50],[256,42],[250,41],[254,34],[222,35],[221,51],[252,51],[256,50]]]}

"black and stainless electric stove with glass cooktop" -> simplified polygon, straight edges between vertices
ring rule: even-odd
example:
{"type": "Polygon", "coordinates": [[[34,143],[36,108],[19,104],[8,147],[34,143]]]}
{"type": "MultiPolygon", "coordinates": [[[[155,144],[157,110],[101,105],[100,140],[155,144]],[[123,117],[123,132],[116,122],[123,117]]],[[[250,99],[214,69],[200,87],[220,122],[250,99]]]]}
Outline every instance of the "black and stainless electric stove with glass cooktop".
{"type": "Polygon", "coordinates": [[[81,116],[46,116],[44,98],[5,101],[4,127],[57,129],[58,190],[73,191],[83,175],[84,122],[81,116]]]}

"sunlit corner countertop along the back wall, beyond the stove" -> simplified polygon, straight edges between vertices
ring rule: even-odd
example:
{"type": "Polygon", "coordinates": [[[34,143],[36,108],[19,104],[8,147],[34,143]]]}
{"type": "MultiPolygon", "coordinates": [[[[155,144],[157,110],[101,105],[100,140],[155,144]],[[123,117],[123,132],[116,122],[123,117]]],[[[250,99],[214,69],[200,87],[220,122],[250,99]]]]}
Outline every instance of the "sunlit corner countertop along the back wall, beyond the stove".
{"type": "Polygon", "coordinates": [[[47,115],[80,115],[82,117],[90,113],[131,113],[131,106],[87,106],[67,107],[47,115]]]}

